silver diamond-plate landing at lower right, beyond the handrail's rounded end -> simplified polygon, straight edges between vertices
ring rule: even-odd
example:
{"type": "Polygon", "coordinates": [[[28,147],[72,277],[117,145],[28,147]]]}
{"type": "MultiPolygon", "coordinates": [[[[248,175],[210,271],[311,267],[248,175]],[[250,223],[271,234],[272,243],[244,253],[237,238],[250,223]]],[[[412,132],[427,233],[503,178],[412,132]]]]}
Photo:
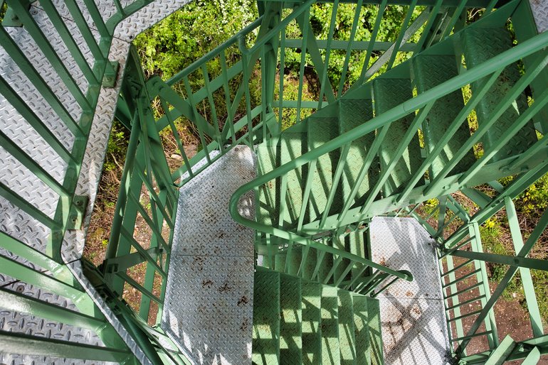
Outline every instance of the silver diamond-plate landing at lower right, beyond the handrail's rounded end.
{"type": "Polygon", "coordinates": [[[386,365],[447,364],[449,351],[438,259],[433,239],[414,218],[375,217],[369,226],[372,260],[409,270],[378,298],[386,365]]]}

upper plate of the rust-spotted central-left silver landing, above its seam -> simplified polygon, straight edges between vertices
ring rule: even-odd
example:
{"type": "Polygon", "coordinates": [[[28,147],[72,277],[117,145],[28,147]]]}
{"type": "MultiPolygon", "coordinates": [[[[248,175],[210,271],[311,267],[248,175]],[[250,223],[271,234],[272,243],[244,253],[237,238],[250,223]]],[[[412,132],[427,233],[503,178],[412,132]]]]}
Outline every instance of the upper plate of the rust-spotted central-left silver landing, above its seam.
{"type": "MultiPolygon", "coordinates": [[[[253,257],[253,230],[233,221],[228,203],[233,192],[254,176],[253,153],[239,146],[181,187],[172,256],[253,257]]],[[[239,202],[240,214],[253,219],[253,206],[253,192],[248,192],[239,202]]]]}

